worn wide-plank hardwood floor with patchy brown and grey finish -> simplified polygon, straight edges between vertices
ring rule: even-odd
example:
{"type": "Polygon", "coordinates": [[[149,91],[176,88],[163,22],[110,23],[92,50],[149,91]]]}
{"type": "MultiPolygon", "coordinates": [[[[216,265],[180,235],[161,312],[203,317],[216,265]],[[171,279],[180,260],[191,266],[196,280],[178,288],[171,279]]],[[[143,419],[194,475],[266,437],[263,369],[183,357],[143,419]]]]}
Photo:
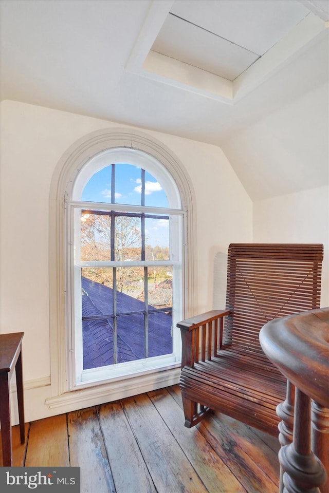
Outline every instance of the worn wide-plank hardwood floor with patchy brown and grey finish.
{"type": "Polygon", "coordinates": [[[15,466],[80,466],[81,493],[277,493],[279,442],[220,413],[184,427],[178,386],[26,424],[15,466]]]}

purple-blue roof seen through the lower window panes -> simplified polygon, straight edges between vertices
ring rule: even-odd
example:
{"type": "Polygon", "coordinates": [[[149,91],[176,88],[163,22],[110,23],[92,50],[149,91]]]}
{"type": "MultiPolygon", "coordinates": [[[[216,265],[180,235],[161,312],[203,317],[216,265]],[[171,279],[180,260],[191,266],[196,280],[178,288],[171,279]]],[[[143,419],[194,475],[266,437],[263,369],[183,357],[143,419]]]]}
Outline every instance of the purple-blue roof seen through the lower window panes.
{"type": "MultiPolygon", "coordinates": [[[[144,303],[117,291],[118,313],[135,312],[118,317],[118,362],[144,357],[144,303]],[[136,313],[139,312],[139,313],[136,313]]],[[[154,309],[154,307],[150,307],[154,309]]],[[[82,316],[94,317],[113,313],[113,289],[82,277],[82,316]]],[[[172,353],[172,317],[166,312],[149,315],[149,357],[172,353]]],[[[113,326],[111,318],[83,321],[83,368],[113,363],[113,326]]]]}

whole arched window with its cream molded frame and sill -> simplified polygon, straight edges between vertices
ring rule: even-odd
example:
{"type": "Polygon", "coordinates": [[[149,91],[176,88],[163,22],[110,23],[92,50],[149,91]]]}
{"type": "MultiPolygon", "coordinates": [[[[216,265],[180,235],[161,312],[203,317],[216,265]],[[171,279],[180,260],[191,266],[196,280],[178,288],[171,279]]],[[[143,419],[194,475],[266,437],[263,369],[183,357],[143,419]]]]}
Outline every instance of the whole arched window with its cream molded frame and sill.
{"type": "Polygon", "coordinates": [[[192,194],[171,150],[137,130],[97,130],[63,155],[50,192],[50,408],[178,382],[192,194]]]}

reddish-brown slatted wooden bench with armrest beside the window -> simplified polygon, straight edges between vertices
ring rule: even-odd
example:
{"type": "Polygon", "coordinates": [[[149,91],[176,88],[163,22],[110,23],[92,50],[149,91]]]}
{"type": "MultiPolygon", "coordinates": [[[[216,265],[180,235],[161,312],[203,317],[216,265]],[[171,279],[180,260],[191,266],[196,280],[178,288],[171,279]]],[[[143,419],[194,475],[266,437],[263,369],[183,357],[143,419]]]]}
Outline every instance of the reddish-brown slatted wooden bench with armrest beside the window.
{"type": "Polygon", "coordinates": [[[320,307],[322,259],[321,244],[230,245],[226,309],[177,324],[185,426],[213,409],[278,434],[286,380],[263,353],[259,332],[273,318],[320,307]]]}

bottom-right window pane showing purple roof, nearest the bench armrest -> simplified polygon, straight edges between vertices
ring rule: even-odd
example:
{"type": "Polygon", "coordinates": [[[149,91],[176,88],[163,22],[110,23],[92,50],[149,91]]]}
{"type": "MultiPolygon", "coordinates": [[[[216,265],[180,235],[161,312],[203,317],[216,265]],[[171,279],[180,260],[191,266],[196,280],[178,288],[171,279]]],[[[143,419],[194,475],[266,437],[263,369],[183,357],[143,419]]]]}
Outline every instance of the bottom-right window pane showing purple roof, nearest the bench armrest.
{"type": "Polygon", "coordinates": [[[149,314],[149,357],[171,354],[172,311],[149,314]]]}

